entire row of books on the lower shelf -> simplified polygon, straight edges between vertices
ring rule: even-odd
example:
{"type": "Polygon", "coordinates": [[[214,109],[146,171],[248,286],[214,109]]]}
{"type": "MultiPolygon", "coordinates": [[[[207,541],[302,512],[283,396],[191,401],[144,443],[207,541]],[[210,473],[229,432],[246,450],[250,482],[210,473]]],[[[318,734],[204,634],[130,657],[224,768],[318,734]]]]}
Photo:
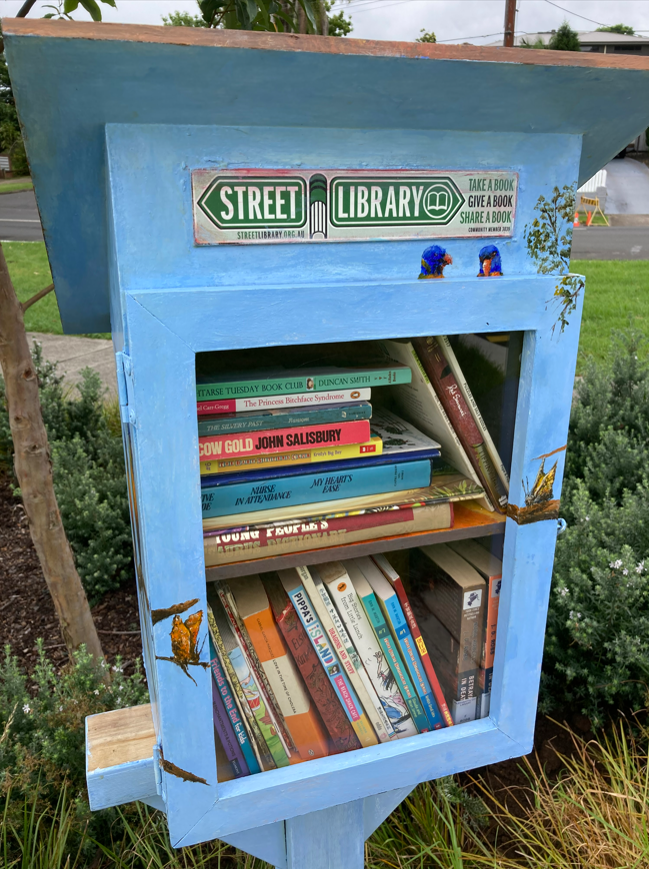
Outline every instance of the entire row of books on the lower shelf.
{"type": "Polygon", "coordinates": [[[501,562],[423,547],[402,580],[395,555],[208,584],[220,780],[489,714],[501,562]]]}

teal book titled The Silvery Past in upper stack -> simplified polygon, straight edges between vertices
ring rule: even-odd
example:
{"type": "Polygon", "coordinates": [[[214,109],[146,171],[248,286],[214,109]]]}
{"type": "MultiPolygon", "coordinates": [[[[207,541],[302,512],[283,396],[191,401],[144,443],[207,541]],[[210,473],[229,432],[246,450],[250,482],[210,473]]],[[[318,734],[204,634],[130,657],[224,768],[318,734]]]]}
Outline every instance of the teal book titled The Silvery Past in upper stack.
{"type": "Polygon", "coordinates": [[[199,419],[198,434],[232,434],[241,431],[265,431],[273,428],[289,428],[292,425],[326,425],[331,422],[349,422],[355,419],[370,419],[372,405],[367,401],[354,404],[325,404],[301,410],[251,411],[199,419]]]}

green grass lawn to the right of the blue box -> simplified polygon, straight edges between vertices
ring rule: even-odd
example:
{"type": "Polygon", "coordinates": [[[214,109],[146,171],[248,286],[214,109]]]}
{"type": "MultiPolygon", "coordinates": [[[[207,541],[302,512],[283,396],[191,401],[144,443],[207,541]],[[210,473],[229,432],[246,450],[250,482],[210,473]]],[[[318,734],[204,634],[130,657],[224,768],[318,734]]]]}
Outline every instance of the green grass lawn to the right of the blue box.
{"type": "Polygon", "coordinates": [[[606,357],[612,329],[630,322],[649,337],[649,260],[573,260],[570,269],[586,277],[578,372],[586,356],[606,357]]]}

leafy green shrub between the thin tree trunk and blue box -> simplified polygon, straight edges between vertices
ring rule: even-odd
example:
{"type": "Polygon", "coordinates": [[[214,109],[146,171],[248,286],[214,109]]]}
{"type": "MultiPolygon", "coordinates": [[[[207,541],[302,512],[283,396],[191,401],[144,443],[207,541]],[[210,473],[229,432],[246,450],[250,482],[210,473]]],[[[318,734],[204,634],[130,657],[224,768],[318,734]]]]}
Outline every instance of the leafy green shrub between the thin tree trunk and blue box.
{"type": "MultiPolygon", "coordinates": [[[[34,345],[43,421],[52,454],[54,490],[77,570],[92,604],[133,576],[133,549],[121,432],[114,408],[90,368],[66,390],[56,365],[34,345]]],[[[0,460],[13,452],[0,377],[0,460]]],[[[16,490],[19,495],[19,490],[16,490]]]]}

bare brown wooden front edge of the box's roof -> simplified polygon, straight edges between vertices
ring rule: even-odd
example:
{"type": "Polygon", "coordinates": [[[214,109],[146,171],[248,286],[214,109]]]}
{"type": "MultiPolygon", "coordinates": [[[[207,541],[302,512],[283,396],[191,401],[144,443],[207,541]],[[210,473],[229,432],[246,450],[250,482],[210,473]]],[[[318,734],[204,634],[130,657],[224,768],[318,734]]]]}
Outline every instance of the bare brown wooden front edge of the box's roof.
{"type": "Polygon", "coordinates": [[[57,21],[43,18],[3,18],[5,36],[41,36],[62,39],[144,42],[158,45],[250,48],[301,51],[315,54],[395,57],[429,60],[471,60],[486,63],[519,63],[527,66],[586,67],[594,69],[649,70],[649,57],[591,54],[578,51],[500,48],[482,45],[439,45],[390,42],[378,39],[341,39],[301,33],[264,33],[246,30],[214,30],[203,27],[163,27],[152,24],[105,24],[92,21],[57,21]]]}

